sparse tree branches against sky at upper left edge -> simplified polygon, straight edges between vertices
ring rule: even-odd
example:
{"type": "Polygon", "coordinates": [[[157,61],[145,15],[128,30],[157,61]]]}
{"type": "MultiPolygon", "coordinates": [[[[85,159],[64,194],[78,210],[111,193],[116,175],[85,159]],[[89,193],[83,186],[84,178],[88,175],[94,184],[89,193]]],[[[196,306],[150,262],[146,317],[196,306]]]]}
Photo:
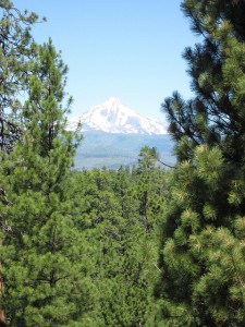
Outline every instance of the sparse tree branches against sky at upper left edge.
{"type": "Polygon", "coordinates": [[[36,53],[30,28],[38,16],[21,13],[9,0],[0,1],[0,148],[10,152],[22,133],[17,97],[25,92],[29,59],[36,53]]]}

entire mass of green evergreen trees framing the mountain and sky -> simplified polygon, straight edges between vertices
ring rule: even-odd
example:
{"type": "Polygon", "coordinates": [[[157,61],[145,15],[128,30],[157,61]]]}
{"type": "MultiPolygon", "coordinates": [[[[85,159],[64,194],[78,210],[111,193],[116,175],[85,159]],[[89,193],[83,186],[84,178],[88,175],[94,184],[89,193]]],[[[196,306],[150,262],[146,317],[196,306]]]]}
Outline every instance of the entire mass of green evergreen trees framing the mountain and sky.
{"type": "MultiPolygon", "coordinates": [[[[245,2],[185,0],[176,165],[76,170],[68,68],[0,0],[0,326],[245,326],[245,2]]],[[[44,22],[45,24],[45,22],[44,22]]]]}

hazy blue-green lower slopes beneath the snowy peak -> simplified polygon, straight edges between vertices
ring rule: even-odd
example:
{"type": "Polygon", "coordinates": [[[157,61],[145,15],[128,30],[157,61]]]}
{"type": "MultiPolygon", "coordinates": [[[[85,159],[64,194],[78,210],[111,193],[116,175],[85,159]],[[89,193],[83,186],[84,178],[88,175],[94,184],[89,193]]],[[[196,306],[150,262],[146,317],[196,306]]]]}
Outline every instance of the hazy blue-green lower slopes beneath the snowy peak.
{"type": "Polygon", "coordinates": [[[175,164],[174,142],[169,134],[112,134],[88,131],[84,133],[84,141],[76,152],[76,169],[132,167],[137,165],[138,154],[145,145],[156,147],[160,160],[164,164],[170,166],[175,164]]]}

